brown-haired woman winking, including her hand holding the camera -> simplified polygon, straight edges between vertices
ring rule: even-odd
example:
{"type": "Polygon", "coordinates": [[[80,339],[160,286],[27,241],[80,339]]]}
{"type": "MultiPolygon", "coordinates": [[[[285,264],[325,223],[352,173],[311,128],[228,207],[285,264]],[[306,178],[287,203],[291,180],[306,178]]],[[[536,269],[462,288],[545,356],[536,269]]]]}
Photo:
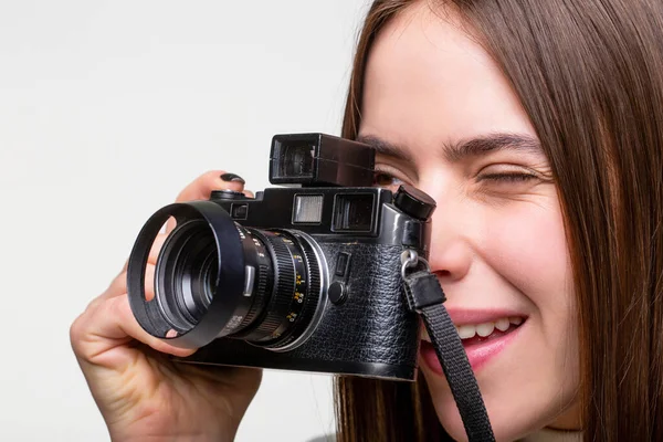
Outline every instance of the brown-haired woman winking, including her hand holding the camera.
{"type": "MultiPolygon", "coordinates": [[[[438,201],[430,263],[497,440],[663,440],[662,25],[656,0],[368,13],[343,135],[376,146],[376,185],[438,201]]],[[[211,172],[179,200],[215,188],[243,190],[211,172]]],[[[189,352],[140,329],[124,280],[72,326],[113,438],[232,440],[260,373],[168,364],[150,348],[189,352]]],[[[425,336],[420,366],[338,379],[339,439],[463,440],[425,336]]]]}

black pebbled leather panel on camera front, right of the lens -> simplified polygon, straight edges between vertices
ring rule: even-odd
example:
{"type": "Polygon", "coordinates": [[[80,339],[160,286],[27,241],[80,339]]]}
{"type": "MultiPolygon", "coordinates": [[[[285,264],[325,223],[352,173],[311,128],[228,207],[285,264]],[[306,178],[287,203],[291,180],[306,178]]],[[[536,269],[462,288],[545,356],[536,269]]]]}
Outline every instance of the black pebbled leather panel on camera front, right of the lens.
{"type": "Polygon", "coordinates": [[[332,267],[339,252],[351,254],[348,298],[340,306],[327,306],[306,351],[325,360],[413,364],[417,315],[408,312],[402,293],[402,248],[356,243],[322,248],[332,267]]]}

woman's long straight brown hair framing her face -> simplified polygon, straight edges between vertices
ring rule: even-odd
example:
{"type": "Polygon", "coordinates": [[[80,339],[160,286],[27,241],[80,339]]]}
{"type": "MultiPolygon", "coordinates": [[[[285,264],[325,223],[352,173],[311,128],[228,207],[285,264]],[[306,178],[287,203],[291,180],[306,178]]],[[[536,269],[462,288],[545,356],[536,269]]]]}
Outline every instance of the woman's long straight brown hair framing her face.
{"type": "MultiPolygon", "coordinates": [[[[361,122],[367,56],[408,0],[359,36],[343,136],[361,122]]],[[[573,267],[586,441],[663,441],[663,3],[453,0],[527,112],[556,177],[573,267]]],[[[442,4],[444,3],[444,4],[442,4]]],[[[422,381],[339,377],[338,439],[436,441],[422,381]]]]}

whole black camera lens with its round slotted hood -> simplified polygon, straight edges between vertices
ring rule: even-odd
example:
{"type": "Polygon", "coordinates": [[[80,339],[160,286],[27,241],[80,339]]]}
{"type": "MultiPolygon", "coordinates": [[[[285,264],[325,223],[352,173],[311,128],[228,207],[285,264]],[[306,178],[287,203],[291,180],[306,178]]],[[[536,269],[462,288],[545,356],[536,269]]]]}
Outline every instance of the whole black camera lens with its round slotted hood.
{"type": "Polygon", "coordinates": [[[188,204],[173,204],[182,213],[157,257],[156,302],[141,287],[154,225],[167,210],[148,221],[131,252],[128,292],[140,325],[164,338],[175,330],[187,347],[229,337],[283,350],[305,340],[319,317],[323,254],[315,241],[242,227],[214,203],[188,204]]]}

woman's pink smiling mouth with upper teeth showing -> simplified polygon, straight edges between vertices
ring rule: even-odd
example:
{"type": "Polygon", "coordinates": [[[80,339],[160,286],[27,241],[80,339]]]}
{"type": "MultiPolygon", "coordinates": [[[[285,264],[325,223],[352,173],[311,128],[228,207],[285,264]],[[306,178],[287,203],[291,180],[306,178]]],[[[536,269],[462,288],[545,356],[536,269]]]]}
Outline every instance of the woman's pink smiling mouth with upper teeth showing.
{"type": "MultiPolygon", "coordinates": [[[[450,311],[456,332],[474,371],[496,357],[513,341],[526,324],[526,317],[514,312],[450,311]]],[[[422,329],[421,357],[434,372],[442,375],[431,339],[422,329]]]]}

